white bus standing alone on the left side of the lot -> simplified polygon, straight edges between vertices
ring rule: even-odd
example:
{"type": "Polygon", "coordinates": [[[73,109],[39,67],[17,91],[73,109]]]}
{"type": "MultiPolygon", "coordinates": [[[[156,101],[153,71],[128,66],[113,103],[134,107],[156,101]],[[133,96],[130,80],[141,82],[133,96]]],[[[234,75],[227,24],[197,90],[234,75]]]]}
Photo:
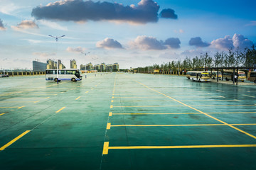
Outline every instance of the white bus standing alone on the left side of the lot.
{"type": "Polygon", "coordinates": [[[79,69],[46,69],[47,81],[80,81],[82,80],[82,73],[79,69]]]}

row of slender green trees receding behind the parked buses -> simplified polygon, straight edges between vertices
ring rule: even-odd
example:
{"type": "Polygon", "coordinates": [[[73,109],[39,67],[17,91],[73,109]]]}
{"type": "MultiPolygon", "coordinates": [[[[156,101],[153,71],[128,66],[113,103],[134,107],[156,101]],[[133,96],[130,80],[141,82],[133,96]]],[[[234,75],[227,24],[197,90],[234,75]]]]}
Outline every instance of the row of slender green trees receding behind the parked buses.
{"type": "Polygon", "coordinates": [[[210,68],[210,67],[255,67],[256,66],[256,48],[254,45],[245,50],[233,50],[228,52],[215,52],[211,57],[208,52],[199,57],[192,59],[186,57],[183,61],[171,61],[168,63],[153,64],[148,67],[138,67],[137,72],[153,72],[154,69],[159,69],[163,72],[176,72],[181,70],[192,70],[196,68],[210,68]]]}

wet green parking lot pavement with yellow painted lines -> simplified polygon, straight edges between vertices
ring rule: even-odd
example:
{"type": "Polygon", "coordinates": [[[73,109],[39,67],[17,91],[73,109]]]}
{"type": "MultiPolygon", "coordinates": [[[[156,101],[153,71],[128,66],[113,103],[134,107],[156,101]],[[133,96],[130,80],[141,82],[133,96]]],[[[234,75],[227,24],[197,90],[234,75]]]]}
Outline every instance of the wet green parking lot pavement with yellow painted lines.
{"type": "Polygon", "coordinates": [[[0,79],[1,169],[256,169],[256,86],[0,79]]]}

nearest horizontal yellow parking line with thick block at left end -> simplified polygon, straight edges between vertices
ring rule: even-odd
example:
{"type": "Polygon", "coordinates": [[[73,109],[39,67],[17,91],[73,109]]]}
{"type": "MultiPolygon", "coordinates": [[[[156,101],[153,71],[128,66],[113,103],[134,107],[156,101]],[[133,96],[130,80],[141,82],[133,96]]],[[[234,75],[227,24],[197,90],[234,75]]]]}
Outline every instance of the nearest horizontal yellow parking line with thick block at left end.
{"type": "Polygon", "coordinates": [[[228,147],[256,147],[256,145],[181,145],[181,146],[129,146],[110,147],[110,142],[104,142],[102,154],[108,154],[109,149],[192,149],[192,148],[228,148],[228,147]]]}

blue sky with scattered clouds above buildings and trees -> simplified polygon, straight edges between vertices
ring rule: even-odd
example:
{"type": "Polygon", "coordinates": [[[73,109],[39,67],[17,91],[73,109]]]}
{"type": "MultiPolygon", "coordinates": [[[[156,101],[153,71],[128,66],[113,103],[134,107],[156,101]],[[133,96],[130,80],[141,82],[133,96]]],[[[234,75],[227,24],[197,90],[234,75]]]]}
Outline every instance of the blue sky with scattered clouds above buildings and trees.
{"type": "Polygon", "coordinates": [[[146,67],[256,44],[255,0],[0,0],[0,69],[146,67]],[[58,41],[55,38],[60,37],[58,41]],[[90,52],[90,53],[89,53],[90,52]],[[85,55],[86,54],[86,55],[85,55]]]}

